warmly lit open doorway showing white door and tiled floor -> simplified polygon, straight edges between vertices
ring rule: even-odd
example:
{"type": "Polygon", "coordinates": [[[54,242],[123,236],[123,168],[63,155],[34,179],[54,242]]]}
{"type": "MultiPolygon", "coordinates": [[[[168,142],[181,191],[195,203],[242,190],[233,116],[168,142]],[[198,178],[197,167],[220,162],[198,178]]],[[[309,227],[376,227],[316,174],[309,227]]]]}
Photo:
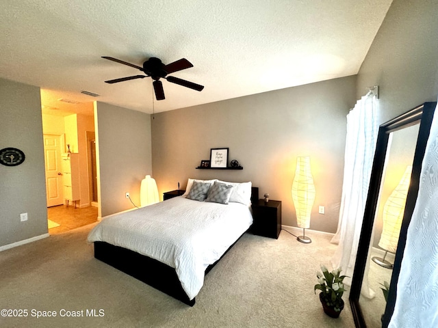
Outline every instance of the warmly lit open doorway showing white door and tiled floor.
{"type": "Polygon", "coordinates": [[[89,102],[72,105],[61,102],[60,98],[63,97],[54,92],[41,90],[49,234],[79,228],[96,222],[98,218],[98,207],[95,206],[99,203],[95,202],[97,197],[93,196],[96,195],[96,188],[93,187],[96,182],[91,178],[96,178],[96,165],[93,168],[88,164],[95,163],[96,158],[96,146],[92,152],[88,152],[91,149],[88,141],[95,139],[94,104],[89,102]],[[73,190],[73,184],[68,183],[71,180],[70,169],[62,165],[65,162],[62,161],[62,156],[68,152],[68,146],[78,159],[75,165],[75,173],[79,172],[79,178],[75,178],[75,206],[66,206],[68,193],[64,193],[64,189],[73,190]]]}

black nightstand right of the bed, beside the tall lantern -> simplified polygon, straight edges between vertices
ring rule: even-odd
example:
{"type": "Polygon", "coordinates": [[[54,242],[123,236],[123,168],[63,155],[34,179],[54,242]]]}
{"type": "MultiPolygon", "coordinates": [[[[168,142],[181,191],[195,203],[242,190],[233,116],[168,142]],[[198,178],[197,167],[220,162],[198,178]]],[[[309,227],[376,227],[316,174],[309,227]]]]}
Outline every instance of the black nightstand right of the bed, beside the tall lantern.
{"type": "Polygon", "coordinates": [[[253,226],[250,231],[259,236],[279,238],[281,230],[281,202],[279,200],[259,200],[253,208],[253,226]]]}

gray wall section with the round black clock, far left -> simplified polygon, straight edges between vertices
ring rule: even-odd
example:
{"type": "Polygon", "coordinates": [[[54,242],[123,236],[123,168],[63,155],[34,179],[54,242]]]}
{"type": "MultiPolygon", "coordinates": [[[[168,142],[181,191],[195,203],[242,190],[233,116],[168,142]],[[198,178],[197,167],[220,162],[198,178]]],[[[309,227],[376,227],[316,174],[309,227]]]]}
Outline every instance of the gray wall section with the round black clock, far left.
{"type": "Polygon", "coordinates": [[[0,79],[0,149],[23,150],[16,167],[0,165],[0,246],[47,233],[40,88],[0,79]],[[20,221],[20,213],[28,220],[20,221]]]}

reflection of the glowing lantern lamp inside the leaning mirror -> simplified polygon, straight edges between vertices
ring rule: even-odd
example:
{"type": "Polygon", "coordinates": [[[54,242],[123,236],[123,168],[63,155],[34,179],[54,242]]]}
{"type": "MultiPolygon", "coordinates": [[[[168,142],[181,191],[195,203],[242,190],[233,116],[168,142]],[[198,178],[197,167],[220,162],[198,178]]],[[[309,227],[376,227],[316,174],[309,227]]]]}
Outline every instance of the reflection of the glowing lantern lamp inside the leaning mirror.
{"type": "Polygon", "coordinates": [[[383,258],[374,256],[372,260],[387,269],[394,267],[394,264],[391,264],[391,262],[385,260],[385,258],[388,251],[389,253],[396,253],[397,250],[398,236],[400,235],[404,215],[404,205],[406,204],[409,183],[411,181],[411,172],[412,167],[409,165],[404,171],[402,179],[396,189],[392,191],[383,206],[383,230],[381,239],[378,241],[378,246],[385,250],[385,255],[383,258]]]}

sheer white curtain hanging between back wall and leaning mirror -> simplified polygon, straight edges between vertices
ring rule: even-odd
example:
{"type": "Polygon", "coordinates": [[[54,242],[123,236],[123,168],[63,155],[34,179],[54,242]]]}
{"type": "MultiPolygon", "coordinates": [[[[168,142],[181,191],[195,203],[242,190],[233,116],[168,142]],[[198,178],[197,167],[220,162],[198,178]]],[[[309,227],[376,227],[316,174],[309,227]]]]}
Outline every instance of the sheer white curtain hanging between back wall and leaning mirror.
{"type": "MultiPolygon", "coordinates": [[[[331,243],[337,243],[339,246],[331,258],[331,264],[333,268],[342,267],[343,274],[348,275],[348,278],[344,279],[344,283],[348,286],[351,286],[355,269],[372,161],[376,149],[378,133],[376,121],[375,96],[363,96],[347,115],[342,201],[337,232],[331,240],[331,243]]],[[[368,279],[365,278],[362,284],[364,295],[373,297],[373,292],[368,292],[368,289],[368,279]]]]}

